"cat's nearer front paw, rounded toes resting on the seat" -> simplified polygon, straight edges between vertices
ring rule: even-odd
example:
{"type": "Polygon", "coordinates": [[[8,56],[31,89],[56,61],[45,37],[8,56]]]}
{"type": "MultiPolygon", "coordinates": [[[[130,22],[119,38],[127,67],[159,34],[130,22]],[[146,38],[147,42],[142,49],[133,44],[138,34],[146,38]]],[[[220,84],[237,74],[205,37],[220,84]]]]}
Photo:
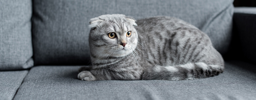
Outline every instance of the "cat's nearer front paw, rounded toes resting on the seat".
{"type": "Polygon", "coordinates": [[[84,81],[95,81],[96,78],[92,75],[90,71],[82,71],[78,74],[78,78],[84,81]]]}

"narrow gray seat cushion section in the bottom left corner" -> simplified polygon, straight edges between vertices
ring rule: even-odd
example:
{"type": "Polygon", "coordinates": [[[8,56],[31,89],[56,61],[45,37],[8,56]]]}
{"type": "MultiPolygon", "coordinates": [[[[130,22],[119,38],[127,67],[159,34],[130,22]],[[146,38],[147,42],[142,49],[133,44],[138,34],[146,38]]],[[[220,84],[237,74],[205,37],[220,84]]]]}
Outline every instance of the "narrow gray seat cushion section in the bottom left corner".
{"type": "Polygon", "coordinates": [[[24,77],[27,75],[24,71],[1,71],[0,72],[0,99],[12,100],[24,77]]]}

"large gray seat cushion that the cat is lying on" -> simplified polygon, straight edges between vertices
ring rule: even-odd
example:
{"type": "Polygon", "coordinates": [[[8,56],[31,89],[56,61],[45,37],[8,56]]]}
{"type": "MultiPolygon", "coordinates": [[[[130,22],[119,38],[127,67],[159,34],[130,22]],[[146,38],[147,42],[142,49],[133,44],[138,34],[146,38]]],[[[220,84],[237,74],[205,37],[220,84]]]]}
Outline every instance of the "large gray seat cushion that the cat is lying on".
{"type": "Polygon", "coordinates": [[[197,80],[103,80],[77,79],[79,66],[33,67],[20,86],[16,99],[256,99],[256,67],[228,61],[224,73],[197,80]]]}

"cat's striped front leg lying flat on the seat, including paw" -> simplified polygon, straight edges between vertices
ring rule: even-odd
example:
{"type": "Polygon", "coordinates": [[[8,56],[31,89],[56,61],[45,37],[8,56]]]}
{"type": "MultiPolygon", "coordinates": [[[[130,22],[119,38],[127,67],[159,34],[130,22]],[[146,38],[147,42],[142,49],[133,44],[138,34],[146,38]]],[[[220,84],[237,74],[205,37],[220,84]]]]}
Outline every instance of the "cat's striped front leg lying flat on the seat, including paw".
{"type": "Polygon", "coordinates": [[[92,69],[89,71],[81,71],[78,74],[80,80],[96,81],[96,80],[139,80],[141,79],[141,71],[120,71],[109,70],[105,68],[92,69]]]}

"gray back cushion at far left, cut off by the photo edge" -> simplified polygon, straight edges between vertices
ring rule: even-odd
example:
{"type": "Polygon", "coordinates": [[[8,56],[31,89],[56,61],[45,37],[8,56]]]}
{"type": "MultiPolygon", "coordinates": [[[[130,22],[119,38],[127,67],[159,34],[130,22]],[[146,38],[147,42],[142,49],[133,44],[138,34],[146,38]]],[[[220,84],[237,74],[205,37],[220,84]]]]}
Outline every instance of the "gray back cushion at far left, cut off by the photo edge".
{"type": "Polygon", "coordinates": [[[0,1],[0,71],[33,66],[31,0],[0,1]]]}

